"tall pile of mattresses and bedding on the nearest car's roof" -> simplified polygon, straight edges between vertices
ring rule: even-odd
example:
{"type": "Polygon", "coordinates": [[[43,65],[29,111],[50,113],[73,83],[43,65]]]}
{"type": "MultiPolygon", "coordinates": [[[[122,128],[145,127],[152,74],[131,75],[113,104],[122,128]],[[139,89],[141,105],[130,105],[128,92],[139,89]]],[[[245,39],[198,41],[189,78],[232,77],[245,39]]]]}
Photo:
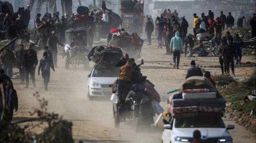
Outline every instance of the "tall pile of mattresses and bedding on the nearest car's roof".
{"type": "Polygon", "coordinates": [[[186,80],[177,94],[170,96],[167,110],[173,118],[196,116],[223,117],[226,101],[212,83],[202,76],[186,80]]]}

